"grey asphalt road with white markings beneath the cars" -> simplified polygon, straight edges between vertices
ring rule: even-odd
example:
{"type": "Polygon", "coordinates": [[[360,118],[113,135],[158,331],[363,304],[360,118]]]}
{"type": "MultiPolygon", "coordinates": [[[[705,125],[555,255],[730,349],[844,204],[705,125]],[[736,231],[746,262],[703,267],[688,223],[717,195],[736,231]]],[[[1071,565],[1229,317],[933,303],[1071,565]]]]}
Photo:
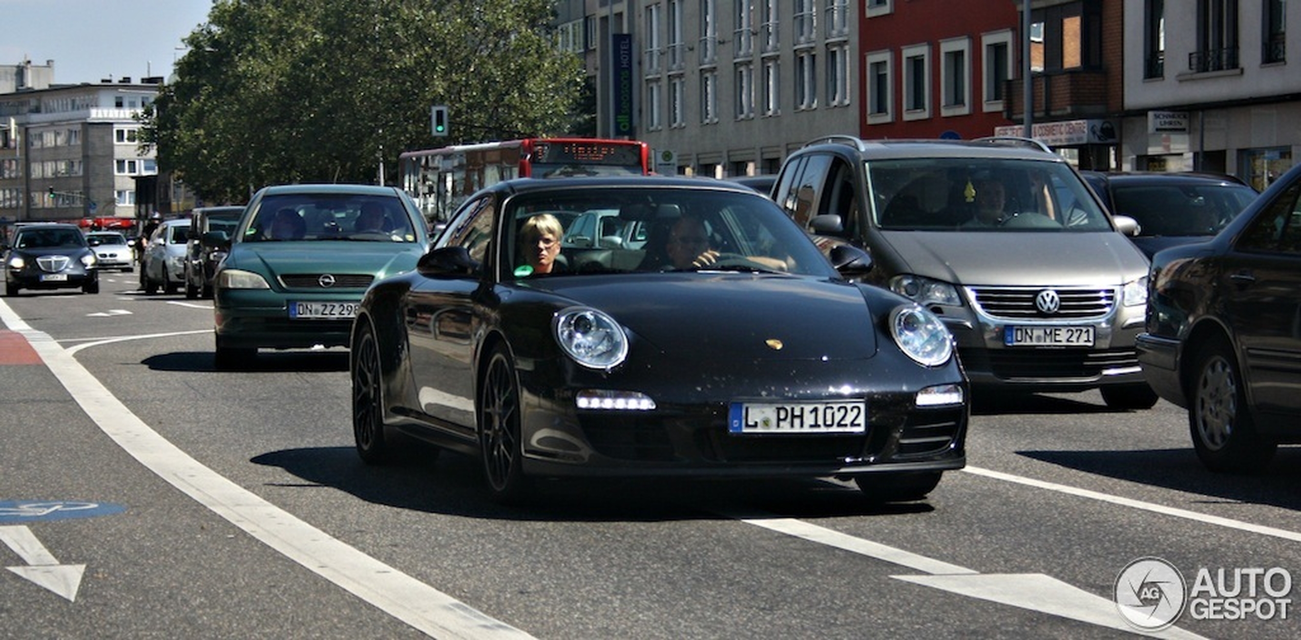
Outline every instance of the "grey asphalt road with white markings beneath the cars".
{"type": "Polygon", "coordinates": [[[1301,631],[1301,450],[1211,475],[1164,402],[977,398],[919,503],[637,480],[511,509],[459,455],[362,464],[346,351],[217,372],[211,302],[134,287],[0,299],[0,637],[1132,636],[1118,579],[1140,624],[1184,601],[1170,637],[1301,631]]]}

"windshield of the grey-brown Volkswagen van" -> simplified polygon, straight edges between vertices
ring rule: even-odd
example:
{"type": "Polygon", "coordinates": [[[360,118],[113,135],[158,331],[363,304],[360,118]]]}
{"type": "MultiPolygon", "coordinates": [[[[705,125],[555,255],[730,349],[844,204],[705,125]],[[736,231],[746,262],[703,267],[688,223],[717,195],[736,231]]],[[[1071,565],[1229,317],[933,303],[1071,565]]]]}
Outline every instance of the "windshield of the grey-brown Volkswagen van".
{"type": "Polygon", "coordinates": [[[873,221],[885,230],[1111,230],[1064,163],[1026,159],[905,159],[866,163],[873,221]]]}

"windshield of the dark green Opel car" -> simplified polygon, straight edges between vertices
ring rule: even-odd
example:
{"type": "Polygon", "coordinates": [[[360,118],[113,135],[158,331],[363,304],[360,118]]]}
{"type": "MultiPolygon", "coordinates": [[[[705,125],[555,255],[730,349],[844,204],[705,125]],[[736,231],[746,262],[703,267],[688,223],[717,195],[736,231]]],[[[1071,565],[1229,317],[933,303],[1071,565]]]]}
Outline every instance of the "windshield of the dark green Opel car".
{"type": "Polygon", "coordinates": [[[243,242],[416,242],[402,200],[385,195],[276,194],[262,199],[243,242]]]}

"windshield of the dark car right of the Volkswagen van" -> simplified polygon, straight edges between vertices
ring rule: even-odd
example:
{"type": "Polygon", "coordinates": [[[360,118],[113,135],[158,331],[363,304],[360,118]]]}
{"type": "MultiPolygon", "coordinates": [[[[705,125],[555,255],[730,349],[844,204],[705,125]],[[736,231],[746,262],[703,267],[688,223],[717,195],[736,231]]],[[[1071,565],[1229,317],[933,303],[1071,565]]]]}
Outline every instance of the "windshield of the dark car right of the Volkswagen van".
{"type": "Polygon", "coordinates": [[[1215,235],[1257,196],[1244,185],[1114,185],[1116,213],[1140,235],[1215,235]]]}

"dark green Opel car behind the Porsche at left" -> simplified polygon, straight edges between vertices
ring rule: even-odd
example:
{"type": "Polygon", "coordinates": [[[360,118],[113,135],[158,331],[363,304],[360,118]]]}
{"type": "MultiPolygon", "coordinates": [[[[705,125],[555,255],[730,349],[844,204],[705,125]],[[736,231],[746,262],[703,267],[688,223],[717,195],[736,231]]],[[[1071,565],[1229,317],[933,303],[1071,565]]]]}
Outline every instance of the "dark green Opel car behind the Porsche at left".
{"type": "Polygon", "coordinates": [[[258,349],[349,346],[371,282],[415,268],[429,245],[402,190],[367,185],[282,185],[258,191],[213,278],[216,367],[247,366],[258,349]]]}

